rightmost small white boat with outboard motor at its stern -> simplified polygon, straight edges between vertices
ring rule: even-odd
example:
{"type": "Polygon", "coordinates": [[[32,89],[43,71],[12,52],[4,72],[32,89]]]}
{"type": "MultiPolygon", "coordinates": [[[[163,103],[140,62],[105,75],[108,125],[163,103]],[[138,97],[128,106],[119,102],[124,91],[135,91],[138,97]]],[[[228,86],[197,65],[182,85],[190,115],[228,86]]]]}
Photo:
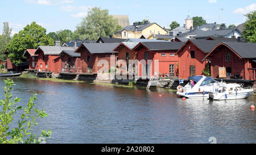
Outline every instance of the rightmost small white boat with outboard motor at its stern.
{"type": "Polygon", "coordinates": [[[250,97],[253,89],[243,89],[242,85],[237,83],[229,83],[220,85],[209,93],[210,100],[228,100],[228,99],[244,99],[250,97]]]}

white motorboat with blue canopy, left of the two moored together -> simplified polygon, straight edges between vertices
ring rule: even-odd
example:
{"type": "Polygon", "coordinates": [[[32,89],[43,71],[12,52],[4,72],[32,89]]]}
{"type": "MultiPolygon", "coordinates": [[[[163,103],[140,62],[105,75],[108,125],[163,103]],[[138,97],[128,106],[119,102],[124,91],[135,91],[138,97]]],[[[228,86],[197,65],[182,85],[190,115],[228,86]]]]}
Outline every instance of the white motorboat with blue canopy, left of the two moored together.
{"type": "Polygon", "coordinates": [[[212,77],[194,76],[189,77],[190,81],[184,87],[177,87],[177,95],[185,98],[208,98],[210,91],[221,84],[212,77]]]}

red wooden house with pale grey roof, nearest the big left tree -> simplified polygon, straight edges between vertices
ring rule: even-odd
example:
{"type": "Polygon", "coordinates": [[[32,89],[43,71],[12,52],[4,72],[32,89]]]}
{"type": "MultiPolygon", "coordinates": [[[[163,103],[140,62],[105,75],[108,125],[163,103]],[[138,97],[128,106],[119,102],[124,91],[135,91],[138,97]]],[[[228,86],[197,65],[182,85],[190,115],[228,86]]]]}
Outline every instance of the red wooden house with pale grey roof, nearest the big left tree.
{"type": "Polygon", "coordinates": [[[75,51],[75,49],[75,47],[61,47],[60,43],[56,43],[55,46],[40,46],[35,51],[35,55],[38,55],[35,68],[39,72],[59,74],[61,72],[60,61],[55,62],[55,60],[60,57],[63,50],[75,51]]]}

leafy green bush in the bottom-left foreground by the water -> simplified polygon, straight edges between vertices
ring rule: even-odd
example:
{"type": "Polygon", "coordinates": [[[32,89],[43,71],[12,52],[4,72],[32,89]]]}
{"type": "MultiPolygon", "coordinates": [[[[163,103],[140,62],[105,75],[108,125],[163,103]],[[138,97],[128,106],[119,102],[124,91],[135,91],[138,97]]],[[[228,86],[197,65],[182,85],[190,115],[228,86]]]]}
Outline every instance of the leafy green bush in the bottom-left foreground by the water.
{"type": "MultiPolygon", "coordinates": [[[[13,86],[15,86],[13,80],[5,80],[6,86],[3,87],[5,90],[5,99],[0,100],[0,144],[18,144],[18,143],[40,143],[36,139],[36,135],[31,133],[32,127],[36,126],[36,118],[47,117],[46,112],[43,110],[38,110],[35,108],[36,104],[34,100],[36,99],[36,94],[34,94],[27,107],[24,108],[23,113],[18,120],[18,125],[15,128],[11,128],[10,124],[14,120],[14,115],[17,111],[23,110],[22,106],[16,106],[19,103],[20,98],[14,98],[11,94],[13,86]]],[[[16,115],[15,115],[16,116],[16,115]]],[[[51,130],[42,130],[41,137],[49,137],[51,135],[51,130]]]]}

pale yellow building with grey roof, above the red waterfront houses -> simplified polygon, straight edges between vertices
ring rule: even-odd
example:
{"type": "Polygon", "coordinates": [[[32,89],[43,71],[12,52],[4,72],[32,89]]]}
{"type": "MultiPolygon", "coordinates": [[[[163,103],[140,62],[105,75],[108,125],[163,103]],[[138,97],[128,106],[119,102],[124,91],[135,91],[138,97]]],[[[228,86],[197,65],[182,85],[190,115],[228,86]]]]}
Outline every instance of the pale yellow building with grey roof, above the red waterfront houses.
{"type": "Polygon", "coordinates": [[[156,23],[146,23],[146,24],[134,24],[132,26],[126,26],[121,30],[115,32],[115,37],[121,39],[128,38],[141,38],[142,35],[167,35],[168,32],[164,28],[160,27],[156,23]]]}

